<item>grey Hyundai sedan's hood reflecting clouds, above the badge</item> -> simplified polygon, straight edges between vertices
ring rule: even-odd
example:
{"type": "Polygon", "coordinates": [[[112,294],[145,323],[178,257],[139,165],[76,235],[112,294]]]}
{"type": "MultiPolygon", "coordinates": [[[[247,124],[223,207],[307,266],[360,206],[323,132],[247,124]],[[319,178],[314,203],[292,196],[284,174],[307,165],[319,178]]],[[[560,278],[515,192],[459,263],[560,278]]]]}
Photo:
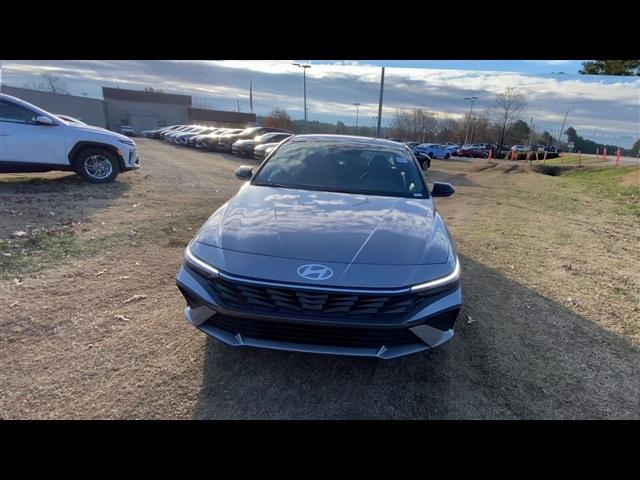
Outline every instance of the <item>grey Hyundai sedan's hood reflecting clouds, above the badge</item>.
{"type": "Polygon", "coordinates": [[[430,198],[254,186],[216,211],[196,242],[230,252],[341,264],[450,261],[451,242],[430,198]]]}

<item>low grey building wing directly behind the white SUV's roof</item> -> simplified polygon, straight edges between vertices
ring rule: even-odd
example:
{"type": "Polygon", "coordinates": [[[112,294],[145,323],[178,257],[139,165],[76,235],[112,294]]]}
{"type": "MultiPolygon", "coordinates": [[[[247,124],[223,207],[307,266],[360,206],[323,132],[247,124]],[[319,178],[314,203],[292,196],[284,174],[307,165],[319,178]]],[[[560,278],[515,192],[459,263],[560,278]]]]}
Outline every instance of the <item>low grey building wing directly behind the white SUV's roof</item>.
{"type": "Polygon", "coordinates": [[[2,85],[0,90],[7,95],[33,103],[47,112],[69,115],[96,127],[107,127],[104,101],[97,98],[77,97],[8,85],[2,85]]]}

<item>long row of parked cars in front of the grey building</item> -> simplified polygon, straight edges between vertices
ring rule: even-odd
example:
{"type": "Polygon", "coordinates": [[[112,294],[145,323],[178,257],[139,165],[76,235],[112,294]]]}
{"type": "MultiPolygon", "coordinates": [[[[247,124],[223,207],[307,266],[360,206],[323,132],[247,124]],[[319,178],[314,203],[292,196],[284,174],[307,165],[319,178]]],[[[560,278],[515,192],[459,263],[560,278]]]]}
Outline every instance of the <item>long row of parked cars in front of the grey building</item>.
{"type": "Polygon", "coordinates": [[[172,125],[146,130],[142,135],[168,143],[263,160],[293,132],[275,127],[217,128],[204,125],[172,125]]]}

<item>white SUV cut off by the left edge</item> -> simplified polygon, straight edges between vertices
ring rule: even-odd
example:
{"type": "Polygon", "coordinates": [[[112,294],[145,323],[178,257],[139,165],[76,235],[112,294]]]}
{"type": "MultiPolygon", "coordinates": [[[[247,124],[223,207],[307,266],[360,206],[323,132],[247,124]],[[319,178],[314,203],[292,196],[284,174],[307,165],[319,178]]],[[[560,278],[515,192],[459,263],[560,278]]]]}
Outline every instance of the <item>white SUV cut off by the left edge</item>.
{"type": "Polygon", "coordinates": [[[92,183],[139,168],[136,144],[0,93],[0,173],[75,171],[92,183]]]}

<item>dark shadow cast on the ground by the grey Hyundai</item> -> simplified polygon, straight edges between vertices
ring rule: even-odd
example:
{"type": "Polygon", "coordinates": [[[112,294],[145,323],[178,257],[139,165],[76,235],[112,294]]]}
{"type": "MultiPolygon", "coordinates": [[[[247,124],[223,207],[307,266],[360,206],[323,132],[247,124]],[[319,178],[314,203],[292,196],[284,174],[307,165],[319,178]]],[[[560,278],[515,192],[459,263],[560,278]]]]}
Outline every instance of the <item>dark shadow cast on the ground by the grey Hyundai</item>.
{"type": "Polygon", "coordinates": [[[384,361],[236,349],[209,338],[194,417],[640,418],[637,348],[462,262],[464,306],[448,344],[384,361]]]}

